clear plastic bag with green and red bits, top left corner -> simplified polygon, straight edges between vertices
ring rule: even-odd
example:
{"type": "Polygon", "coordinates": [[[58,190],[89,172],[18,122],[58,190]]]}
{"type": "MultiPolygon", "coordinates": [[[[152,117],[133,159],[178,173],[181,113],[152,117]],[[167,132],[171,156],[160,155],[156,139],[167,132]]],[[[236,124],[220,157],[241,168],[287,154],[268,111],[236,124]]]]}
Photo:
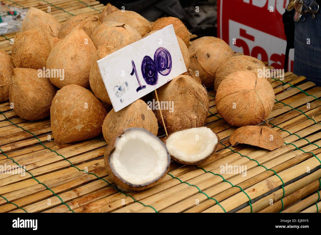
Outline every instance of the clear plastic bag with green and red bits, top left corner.
{"type": "Polygon", "coordinates": [[[21,9],[0,2],[0,34],[20,31],[28,9],[21,9]]]}

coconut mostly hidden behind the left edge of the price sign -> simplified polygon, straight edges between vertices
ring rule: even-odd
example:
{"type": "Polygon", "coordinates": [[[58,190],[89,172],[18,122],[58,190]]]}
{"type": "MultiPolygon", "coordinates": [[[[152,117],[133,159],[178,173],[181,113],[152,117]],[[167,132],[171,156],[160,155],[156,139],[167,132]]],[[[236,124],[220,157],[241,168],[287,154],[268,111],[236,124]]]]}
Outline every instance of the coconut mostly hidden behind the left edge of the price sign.
{"type": "Polygon", "coordinates": [[[105,84],[101,78],[99,67],[97,61],[108,56],[109,54],[115,52],[112,47],[100,46],[92,58],[90,74],[89,74],[89,83],[92,92],[97,96],[98,99],[104,103],[111,105],[105,84]]]}

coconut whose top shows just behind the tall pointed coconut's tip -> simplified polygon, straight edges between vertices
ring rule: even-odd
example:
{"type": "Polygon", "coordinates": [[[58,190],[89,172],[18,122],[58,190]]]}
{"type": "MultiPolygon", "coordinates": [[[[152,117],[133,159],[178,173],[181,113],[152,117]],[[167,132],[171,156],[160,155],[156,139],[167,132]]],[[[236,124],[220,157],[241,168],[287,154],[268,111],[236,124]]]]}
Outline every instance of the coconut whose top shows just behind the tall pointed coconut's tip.
{"type": "Polygon", "coordinates": [[[96,15],[77,15],[67,20],[60,28],[58,36],[64,38],[70,33],[78,24],[90,37],[92,32],[100,25],[99,17],[96,15]]]}

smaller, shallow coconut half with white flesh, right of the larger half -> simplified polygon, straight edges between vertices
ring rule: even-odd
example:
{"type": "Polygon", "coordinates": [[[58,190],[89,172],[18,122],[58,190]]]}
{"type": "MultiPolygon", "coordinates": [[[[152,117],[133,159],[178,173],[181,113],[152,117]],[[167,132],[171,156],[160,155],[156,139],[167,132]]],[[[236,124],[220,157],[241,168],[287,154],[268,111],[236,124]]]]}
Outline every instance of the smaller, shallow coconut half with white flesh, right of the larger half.
{"type": "Polygon", "coordinates": [[[207,127],[195,127],[170,134],[165,141],[171,158],[185,165],[197,165],[217,149],[220,138],[207,127]]]}

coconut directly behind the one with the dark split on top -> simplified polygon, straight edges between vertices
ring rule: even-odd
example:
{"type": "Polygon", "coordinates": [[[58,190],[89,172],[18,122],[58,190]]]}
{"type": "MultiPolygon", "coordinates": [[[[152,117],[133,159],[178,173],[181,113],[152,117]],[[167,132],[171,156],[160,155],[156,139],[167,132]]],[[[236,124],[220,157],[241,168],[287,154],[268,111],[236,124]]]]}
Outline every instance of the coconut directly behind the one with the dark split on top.
{"type": "Polygon", "coordinates": [[[110,21],[124,22],[125,24],[129,24],[136,29],[142,37],[152,30],[149,21],[133,11],[115,11],[110,13],[108,16],[106,16],[103,22],[105,23],[110,21]]]}

